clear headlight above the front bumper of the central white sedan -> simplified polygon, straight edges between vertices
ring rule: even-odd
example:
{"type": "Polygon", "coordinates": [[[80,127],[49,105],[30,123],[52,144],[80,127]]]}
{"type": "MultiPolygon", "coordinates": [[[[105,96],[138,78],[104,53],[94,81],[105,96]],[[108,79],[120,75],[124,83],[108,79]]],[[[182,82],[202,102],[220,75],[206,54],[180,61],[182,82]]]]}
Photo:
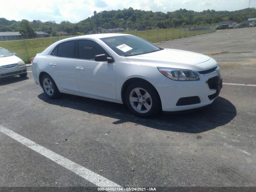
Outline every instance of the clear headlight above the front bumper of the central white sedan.
{"type": "Polygon", "coordinates": [[[196,81],[200,80],[198,75],[187,69],[172,69],[172,68],[163,68],[158,67],[158,70],[166,77],[176,80],[176,81],[196,81]]]}

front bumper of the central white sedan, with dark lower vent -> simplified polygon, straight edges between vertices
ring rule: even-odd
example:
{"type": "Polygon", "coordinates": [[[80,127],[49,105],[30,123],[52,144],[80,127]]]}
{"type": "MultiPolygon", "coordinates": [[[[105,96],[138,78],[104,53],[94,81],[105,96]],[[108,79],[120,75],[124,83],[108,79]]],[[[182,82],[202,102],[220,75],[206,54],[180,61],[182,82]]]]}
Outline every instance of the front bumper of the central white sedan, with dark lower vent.
{"type": "Polygon", "coordinates": [[[211,104],[222,88],[218,72],[201,75],[198,81],[174,81],[164,78],[154,85],[159,93],[162,110],[166,112],[190,110],[211,104]],[[209,79],[216,84],[209,85],[209,79]],[[182,104],[183,103],[183,104],[182,104]],[[195,103],[195,104],[190,104],[195,103]]]}

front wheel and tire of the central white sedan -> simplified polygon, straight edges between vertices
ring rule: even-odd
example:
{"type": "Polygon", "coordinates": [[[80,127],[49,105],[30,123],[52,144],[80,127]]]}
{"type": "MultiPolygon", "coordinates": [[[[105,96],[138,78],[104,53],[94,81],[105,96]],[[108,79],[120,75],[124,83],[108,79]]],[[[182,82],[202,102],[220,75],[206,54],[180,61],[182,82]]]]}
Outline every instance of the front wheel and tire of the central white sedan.
{"type": "Polygon", "coordinates": [[[161,110],[161,101],[154,87],[147,82],[133,82],[125,93],[129,110],[136,116],[149,118],[161,110]]]}

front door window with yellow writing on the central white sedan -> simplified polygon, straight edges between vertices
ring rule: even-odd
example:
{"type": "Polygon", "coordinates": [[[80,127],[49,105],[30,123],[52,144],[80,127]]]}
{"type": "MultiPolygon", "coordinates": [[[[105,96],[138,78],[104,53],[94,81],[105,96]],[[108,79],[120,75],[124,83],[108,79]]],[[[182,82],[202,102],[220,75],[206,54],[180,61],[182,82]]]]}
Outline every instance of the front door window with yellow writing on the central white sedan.
{"type": "Polygon", "coordinates": [[[107,52],[96,42],[91,40],[78,40],[78,58],[94,60],[96,55],[107,54],[107,52]]]}

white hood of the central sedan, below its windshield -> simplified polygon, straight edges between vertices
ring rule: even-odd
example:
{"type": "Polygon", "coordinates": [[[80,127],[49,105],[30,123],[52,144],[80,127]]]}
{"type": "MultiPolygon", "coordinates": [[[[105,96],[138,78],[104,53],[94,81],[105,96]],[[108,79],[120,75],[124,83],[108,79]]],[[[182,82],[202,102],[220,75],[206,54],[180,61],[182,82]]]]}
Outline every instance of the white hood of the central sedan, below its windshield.
{"type": "Polygon", "coordinates": [[[209,56],[176,49],[163,49],[148,54],[128,56],[126,58],[132,64],[196,71],[207,70],[217,66],[217,62],[209,56]]]}

